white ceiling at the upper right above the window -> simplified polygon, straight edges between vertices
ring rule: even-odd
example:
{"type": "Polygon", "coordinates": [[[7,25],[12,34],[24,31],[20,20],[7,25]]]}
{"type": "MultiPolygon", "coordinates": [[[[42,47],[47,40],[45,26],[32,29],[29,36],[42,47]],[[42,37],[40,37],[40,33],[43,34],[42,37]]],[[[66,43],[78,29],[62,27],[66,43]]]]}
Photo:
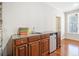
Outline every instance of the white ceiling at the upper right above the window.
{"type": "Polygon", "coordinates": [[[79,3],[77,2],[48,2],[47,4],[63,12],[79,9],[79,3]]]}

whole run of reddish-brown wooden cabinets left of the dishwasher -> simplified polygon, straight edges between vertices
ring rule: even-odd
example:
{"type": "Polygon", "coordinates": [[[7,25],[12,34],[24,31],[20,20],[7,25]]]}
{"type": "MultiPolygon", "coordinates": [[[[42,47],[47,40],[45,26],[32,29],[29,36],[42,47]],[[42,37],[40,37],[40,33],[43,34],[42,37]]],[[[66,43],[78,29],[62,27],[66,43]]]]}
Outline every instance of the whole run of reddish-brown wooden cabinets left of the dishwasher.
{"type": "Polygon", "coordinates": [[[12,39],[8,42],[7,53],[10,56],[46,56],[49,53],[49,39],[50,34],[12,39]]]}

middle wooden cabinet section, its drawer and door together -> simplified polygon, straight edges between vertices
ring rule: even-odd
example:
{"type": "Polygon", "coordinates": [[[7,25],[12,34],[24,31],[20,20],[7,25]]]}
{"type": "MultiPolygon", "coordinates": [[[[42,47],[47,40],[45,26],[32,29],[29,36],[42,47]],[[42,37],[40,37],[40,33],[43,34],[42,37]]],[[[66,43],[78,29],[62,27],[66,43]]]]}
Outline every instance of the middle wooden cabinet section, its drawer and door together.
{"type": "Polygon", "coordinates": [[[29,56],[40,55],[40,35],[28,37],[29,41],[29,56]]]}

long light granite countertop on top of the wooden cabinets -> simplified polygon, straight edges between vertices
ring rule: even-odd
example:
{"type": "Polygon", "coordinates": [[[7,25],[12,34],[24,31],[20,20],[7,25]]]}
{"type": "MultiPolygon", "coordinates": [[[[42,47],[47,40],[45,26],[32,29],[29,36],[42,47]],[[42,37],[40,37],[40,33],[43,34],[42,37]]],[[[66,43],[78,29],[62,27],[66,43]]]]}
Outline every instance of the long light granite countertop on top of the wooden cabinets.
{"type": "Polygon", "coordinates": [[[14,34],[11,36],[12,39],[18,39],[18,38],[24,38],[24,37],[30,37],[30,36],[37,36],[37,35],[42,35],[42,34],[51,34],[51,33],[57,33],[57,32],[53,32],[53,31],[46,31],[46,32],[34,32],[32,34],[28,34],[28,35],[17,35],[14,34]]]}

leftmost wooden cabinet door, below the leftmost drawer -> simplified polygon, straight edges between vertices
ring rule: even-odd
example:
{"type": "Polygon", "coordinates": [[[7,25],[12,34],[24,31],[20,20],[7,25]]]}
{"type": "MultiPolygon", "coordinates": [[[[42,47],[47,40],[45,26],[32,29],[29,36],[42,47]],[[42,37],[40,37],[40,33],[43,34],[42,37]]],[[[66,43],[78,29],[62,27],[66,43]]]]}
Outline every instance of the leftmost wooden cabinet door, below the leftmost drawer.
{"type": "Polygon", "coordinates": [[[16,47],[16,56],[27,56],[27,55],[28,55],[27,44],[16,47]]]}

